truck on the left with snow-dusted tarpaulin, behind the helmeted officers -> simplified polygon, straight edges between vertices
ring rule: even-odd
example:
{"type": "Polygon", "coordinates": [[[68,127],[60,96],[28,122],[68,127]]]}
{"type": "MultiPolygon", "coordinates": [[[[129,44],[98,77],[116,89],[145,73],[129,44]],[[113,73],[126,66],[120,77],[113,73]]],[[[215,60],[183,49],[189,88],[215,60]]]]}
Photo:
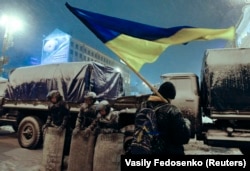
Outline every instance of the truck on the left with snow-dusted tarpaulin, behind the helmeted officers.
{"type": "Polygon", "coordinates": [[[57,89],[70,105],[72,127],[80,104],[89,91],[98,100],[124,96],[120,72],[96,62],[70,62],[19,67],[8,79],[0,80],[0,126],[17,131],[21,147],[35,149],[42,144],[41,127],[48,115],[46,95],[57,89]]]}

